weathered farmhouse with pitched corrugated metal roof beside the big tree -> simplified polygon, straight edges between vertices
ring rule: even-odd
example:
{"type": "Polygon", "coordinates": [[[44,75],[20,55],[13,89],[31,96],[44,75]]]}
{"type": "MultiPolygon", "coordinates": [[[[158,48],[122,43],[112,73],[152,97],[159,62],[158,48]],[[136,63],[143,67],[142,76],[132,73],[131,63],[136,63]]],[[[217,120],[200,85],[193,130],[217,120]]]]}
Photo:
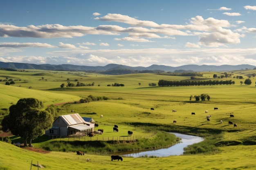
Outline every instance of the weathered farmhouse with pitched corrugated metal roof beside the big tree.
{"type": "Polygon", "coordinates": [[[94,123],[85,121],[78,113],[59,116],[45,135],[84,136],[94,131],[94,123]]]}

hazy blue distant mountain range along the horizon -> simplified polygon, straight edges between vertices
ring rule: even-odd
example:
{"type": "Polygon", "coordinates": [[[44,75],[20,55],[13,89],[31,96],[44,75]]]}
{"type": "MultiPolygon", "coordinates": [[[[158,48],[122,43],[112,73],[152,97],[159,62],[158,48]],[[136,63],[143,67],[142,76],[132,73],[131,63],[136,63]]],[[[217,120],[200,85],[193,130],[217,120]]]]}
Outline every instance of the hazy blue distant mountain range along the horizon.
{"type": "Polygon", "coordinates": [[[164,66],[164,65],[156,65],[153,64],[148,67],[132,67],[132,66],[125,66],[120,64],[108,64],[106,66],[78,66],[72,64],[27,64],[27,63],[16,63],[16,62],[0,62],[0,68],[9,68],[9,69],[37,69],[37,70],[52,70],[52,71],[94,71],[94,72],[105,72],[105,71],[112,71],[112,70],[130,70],[130,71],[194,71],[194,72],[201,72],[201,71],[234,71],[234,70],[245,70],[245,69],[254,69],[256,66],[252,66],[249,64],[240,64],[236,66],[232,65],[221,65],[221,66],[214,66],[214,65],[184,65],[184,66],[164,66]]]}

